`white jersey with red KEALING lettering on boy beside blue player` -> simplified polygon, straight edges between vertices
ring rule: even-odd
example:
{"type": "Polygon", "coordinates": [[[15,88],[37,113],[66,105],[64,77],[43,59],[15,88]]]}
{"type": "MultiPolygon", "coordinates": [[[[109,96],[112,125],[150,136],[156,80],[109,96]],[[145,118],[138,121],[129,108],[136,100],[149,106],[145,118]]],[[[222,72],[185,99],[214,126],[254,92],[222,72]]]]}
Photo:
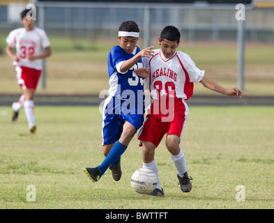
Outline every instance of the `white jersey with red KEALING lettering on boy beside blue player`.
{"type": "Polygon", "coordinates": [[[193,94],[193,82],[200,82],[204,70],[199,70],[188,54],[176,52],[166,59],[160,49],[154,50],[150,59],[143,58],[144,68],[149,67],[149,90],[153,99],[167,98],[190,99],[193,94]]]}

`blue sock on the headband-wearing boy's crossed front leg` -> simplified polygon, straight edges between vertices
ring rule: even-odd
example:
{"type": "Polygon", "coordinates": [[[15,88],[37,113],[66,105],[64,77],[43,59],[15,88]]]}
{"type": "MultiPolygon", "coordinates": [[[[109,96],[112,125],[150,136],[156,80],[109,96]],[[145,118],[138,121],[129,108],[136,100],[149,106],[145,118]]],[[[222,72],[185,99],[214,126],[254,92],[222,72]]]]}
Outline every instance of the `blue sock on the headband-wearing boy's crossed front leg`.
{"type": "Polygon", "coordinates": [[[128,146],[124,146],[120,141],[117,141],[116,144],[114,144],[109,151],[109,154],[107,154],[107,157],[105,157],[105,160],[98,166],[101,171],[101,176],[102,174],[105,174],[105,171],[107,171],[107,168],[109,168],[110,165],[118,162],[119,157],[125,152],[126,148],[128,148],[128,146]]]}

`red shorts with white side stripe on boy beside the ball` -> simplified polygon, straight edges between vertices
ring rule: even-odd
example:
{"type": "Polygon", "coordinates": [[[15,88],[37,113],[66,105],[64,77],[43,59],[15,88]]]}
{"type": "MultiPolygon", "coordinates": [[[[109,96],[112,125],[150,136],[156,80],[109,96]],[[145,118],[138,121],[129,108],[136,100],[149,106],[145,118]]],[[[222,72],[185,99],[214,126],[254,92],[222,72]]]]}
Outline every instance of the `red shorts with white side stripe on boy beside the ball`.
{"type": "Polygon", "coordinates": [[[158,147],[165,134],[175,134],[181,139],[188,118],[188,105],[183,100],[177,100],[174,107],[175,111],[172,111],[174,116],[170,121],[163,121],[159,114],[146,116],[144,125],[138,134],[141,144],[142,141],[149,141],[158,147]]]}

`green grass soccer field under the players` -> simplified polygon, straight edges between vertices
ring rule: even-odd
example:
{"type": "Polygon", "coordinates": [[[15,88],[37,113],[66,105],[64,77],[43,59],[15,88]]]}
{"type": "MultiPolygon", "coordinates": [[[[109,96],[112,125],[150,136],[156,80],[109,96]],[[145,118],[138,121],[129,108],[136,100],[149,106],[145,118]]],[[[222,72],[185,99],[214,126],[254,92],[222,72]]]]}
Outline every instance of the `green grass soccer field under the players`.
{"type": "Polygon", "coordinates": [[[85,176],[84,167],[103,159],[98,107],[37,106],[34,135],[24,111],[11,123],[10,107],[0,107],[0,208],[273,209],[273,114],[274,107],[190,107],[181,148],[192,191],[181,192],[162,141],[155,155],[165,190],[159,198],[130,187],[130,176],[142,167],[136,138],[122,156],[119,182],[110,171],[98,183],[85,176]],[[27,197],[29,185],[36,201],[27,197]],[[245,201],[236,201],[237,185],[245,187],[245,201]]]}

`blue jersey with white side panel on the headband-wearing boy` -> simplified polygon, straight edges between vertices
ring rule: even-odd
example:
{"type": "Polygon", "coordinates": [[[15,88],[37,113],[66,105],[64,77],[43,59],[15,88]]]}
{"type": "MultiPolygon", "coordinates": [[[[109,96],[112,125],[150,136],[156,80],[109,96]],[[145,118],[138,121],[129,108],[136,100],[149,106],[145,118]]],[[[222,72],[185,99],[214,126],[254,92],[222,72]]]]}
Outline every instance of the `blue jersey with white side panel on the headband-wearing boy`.
{"type": "Polygon", "coordinates": [[[117,70],[119,63],[131,59],[138,52],[139,47],[135,47],[132,54],[127,54],[119,46],[113,47],[109,52],[109,97],[112,98],[112,104],[109,106],[110,109],[115,107],[116,114],[144,114],[144,79],[134,72],[135,69],[143,67],[142,59],[125,73],[117,70]]]}

